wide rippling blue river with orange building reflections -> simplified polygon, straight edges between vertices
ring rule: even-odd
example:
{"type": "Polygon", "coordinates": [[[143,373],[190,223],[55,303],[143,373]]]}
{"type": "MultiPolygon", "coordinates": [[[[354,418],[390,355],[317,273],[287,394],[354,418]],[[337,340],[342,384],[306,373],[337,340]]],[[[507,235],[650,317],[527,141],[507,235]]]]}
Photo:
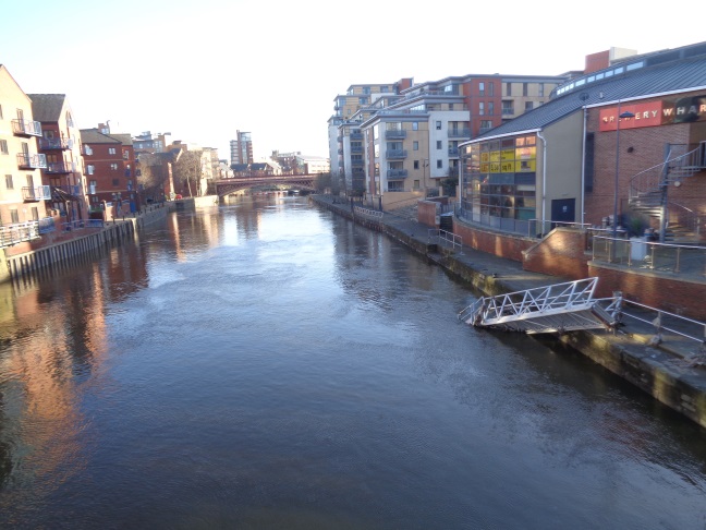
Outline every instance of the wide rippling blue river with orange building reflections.
{"type": "Polygon", "coordinates": [[[282,196],[0,286],[0,527],[706,528],[703,429],[473,299],[282,196]]]}

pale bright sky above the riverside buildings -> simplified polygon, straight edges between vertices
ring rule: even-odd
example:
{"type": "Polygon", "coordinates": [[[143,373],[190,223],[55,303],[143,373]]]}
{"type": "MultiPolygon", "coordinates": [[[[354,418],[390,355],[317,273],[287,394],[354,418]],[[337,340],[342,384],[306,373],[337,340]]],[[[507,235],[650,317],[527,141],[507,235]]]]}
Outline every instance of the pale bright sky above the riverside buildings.
{"type": "Polygon", "coordinates": [[[170,132],[230,158],[328,157],[334,98],[353,84],[466,74],[559,75],[611,47],[706,40],[703,4],[595,0],[4,0],[0,64],[26,94],[65,94],[81,129],[170,132]],[[689,15],[691,13],[691,15],[689,15]],[[677,14],[677,12],[673,12],[677,14]]]}

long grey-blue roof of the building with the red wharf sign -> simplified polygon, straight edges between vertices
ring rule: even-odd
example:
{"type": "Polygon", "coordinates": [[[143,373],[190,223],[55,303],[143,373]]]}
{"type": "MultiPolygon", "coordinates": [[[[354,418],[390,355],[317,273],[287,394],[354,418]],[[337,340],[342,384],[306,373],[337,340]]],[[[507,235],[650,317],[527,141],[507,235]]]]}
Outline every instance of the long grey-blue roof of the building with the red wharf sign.
{"type": "Polygon", "coordinates": [[[706,41],[630,57],[557,87],[552,99],[464,144],[536,131],[584,107],[706,89],[706,41]]]}

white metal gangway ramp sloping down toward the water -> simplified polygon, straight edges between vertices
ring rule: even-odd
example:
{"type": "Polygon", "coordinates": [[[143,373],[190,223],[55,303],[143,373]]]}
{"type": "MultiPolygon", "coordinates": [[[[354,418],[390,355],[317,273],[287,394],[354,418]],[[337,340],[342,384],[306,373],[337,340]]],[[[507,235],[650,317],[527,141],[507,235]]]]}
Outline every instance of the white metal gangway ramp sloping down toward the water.
{"type": "Polygon", "coordinates": [[[483,297],[459,312],[459,320],[477,327],[527,334],[613,328],[622,298],[595,299],[598,278],[483,297]]]}

